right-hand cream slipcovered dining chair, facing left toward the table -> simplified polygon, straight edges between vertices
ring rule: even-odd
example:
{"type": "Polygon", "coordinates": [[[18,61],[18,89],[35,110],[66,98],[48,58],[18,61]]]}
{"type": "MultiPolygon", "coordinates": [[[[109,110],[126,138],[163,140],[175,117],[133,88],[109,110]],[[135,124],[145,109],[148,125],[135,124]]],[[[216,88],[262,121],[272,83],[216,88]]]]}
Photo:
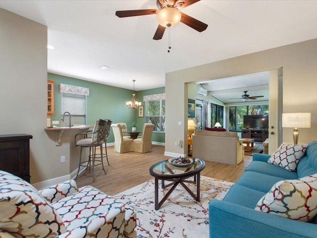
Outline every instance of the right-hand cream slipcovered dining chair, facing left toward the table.
{"type": "Polygon", "coordinates": [[[152,133],[154,124],[144,123],[142,137],[133,140],[133,148],[135,152],[146,153],[152,151],[152,133]]]}

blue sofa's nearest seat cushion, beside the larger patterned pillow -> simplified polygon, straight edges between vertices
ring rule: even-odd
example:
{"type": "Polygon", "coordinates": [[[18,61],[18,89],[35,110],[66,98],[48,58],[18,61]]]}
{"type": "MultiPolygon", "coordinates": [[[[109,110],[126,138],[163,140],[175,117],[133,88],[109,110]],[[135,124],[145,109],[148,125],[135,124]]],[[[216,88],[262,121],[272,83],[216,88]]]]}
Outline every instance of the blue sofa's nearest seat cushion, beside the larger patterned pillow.
{"type": "Polygon", "coordinates": [[[223,198],[223,201],[254,209],[258,201],[265,194],[266,192],[261,192],[249,187],[241,186],[239,184],[234,184],[223,198]]]}

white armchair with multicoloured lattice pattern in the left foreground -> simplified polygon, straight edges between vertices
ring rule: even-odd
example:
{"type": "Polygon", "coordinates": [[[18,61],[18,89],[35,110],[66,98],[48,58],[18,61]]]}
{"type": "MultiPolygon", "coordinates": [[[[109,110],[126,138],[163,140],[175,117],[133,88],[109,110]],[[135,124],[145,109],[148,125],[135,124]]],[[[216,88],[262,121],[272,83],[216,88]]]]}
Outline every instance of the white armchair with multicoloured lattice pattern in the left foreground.
{"type": "Polygon", "coordinates": [[[0,171],[0,237],[136,238],[136,213],[74,180],[37,190],[0,171]]]}

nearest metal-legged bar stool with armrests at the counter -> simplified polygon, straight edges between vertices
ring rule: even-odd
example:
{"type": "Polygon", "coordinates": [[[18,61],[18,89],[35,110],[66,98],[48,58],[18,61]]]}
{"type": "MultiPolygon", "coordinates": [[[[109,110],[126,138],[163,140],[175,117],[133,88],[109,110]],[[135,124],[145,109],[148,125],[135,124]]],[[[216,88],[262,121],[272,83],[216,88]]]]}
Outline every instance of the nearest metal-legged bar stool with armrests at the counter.
{"type": "Polygon", "coordinates": [[[103,171],[106,175],[106,171],[104,168],[104,161],[103,161],[103,143],[106,136],[106,127],[107,127],[107,120],[99,119],[96,120],[95,127],[92,132],[82,132],[75,135],[75,146],[80,146],[80,157],[79,157],[79,166],[76,178],[78,178],[78,174],[80,171],[80,167],[86,167],[93,171],[93,181],[95,181],[95,166],[102,165],[103,171]],[[87,138],[88,135],[91,135],[91,138],[87,138]],[[81,136],[83,139],[77,139],[78,136],[81,136]],[[86,138],[85,138],[86,137],[86,138]],[[100,154],[96,153],[96,148],[100,147],[100,154]],[[88,160],[82,161],[82,151],[83,148],[89,148],[89,156],[88,160]],[[97,164],[95,164],[97,162],[97,164]]]}

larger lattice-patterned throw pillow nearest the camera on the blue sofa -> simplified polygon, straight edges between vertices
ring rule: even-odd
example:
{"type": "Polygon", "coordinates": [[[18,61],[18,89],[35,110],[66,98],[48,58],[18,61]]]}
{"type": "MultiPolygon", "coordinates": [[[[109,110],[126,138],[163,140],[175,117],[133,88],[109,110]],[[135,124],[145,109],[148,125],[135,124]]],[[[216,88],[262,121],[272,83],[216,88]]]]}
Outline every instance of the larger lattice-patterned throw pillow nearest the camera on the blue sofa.
{"type": "Polygon", "coordinates": [[[275,183],[255,210],[308,222],[317,214],[317,174],[275,183]]]}

